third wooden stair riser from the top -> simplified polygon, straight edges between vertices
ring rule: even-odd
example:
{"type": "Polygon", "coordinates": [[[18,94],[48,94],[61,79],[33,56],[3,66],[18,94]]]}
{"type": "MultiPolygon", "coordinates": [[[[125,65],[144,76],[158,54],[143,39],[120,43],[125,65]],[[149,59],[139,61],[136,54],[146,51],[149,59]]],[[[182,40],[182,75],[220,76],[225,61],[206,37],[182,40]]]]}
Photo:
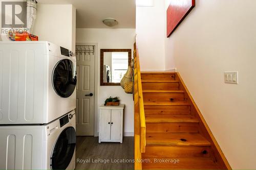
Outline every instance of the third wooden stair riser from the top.
{"type": "Polygon", "coordinates": [[[146,102],[173,102],[184,101],[184,93],[148,93],[143,92],[143,101],[146,102]]]}

